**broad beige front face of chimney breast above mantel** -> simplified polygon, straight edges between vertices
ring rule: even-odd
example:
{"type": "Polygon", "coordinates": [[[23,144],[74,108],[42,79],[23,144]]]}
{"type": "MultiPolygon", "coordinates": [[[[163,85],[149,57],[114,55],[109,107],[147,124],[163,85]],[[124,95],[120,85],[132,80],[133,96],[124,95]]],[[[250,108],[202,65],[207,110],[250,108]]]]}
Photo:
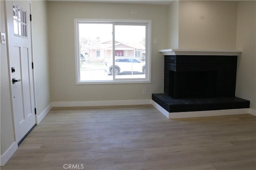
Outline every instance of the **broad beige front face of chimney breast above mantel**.
{"type": "Polygon", "coordinates": [[[236,49],[237,2],[180,1],[179,49],[236,49]]]}

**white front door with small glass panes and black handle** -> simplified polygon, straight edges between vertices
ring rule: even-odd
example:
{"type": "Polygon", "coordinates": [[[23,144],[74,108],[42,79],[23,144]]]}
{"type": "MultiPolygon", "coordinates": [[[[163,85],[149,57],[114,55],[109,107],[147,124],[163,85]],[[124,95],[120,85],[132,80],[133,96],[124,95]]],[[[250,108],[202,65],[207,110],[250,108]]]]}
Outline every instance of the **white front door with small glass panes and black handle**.
{"type": "Polygon", "coordinates": [[[30,3],[5,1],[12,111],[16,141],[35,125],[30,3]]]}

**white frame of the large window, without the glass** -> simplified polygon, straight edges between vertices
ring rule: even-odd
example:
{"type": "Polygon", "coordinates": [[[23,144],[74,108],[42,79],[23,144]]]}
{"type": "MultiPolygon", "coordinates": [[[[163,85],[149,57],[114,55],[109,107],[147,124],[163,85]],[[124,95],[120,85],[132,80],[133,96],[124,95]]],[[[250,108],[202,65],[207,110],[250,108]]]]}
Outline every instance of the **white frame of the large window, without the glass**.
{"type": "MultiPolygon", "coordinates": [[[[76,68],[76,84],[134,84],[134,83],[151,83],[151,20],[106,20],[106,19],[74,19],[74,39],[75,39],[75,68],[76,68]],[[127,78],[116,79],[113,74],[113,80],[97,80],[97,81],[79,81],[80,80],[80,51],[79,51],[79,23],[110,23],[113,24],[113,34],[115,25],[145,25],[146,26],[146,78],[127,78]]],[[[115,39],[113,36],[113,47],[115,39]]],[[[113,50],[113,62],[115,55],[113,50]]],[[[114,69],[114,64],[113,64],[114,69]]]]}

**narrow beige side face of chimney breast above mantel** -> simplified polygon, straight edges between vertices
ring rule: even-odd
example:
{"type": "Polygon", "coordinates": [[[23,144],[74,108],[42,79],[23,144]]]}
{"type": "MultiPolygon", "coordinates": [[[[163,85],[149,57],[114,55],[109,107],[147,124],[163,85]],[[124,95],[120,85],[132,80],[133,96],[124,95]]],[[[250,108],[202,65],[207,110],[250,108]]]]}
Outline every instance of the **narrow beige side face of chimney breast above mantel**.
{"type": "Polygon", "coordinates": [[[179,1],[168,6],[168,49],[179,48],[179,1]]]}

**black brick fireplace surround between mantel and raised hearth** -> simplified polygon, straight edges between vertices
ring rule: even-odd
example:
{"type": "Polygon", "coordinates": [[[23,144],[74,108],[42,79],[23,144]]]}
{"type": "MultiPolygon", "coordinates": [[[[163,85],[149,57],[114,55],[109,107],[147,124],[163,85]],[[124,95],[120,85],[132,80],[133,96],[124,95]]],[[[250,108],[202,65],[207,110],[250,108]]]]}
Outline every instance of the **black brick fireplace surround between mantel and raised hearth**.
{"type": "Polygon", "coordinates": [[[164,93],[174,99],[235,96],[237,56],[165,56],[164,93]]]}

